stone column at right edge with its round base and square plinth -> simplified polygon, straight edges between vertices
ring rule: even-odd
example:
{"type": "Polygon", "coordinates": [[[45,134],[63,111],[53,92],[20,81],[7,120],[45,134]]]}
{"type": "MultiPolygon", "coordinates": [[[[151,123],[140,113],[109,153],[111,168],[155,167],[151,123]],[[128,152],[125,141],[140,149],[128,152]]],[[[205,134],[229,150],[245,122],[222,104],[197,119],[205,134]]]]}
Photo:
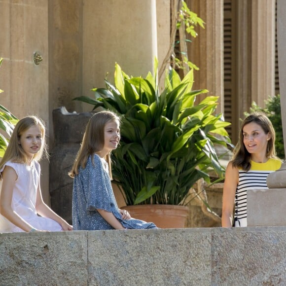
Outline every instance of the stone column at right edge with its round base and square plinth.
{"type": "MultiPolygon", "coordinates": [[[[286,142],[286,1],[277,1],[277,38],[281,113],[286,142]]],[[[286,150],[286,148],[285,148],[286,150]]],[[[286,161],[267,177],[269,189],[248,190],[248,226],[286,225],[286,161]]]]}

